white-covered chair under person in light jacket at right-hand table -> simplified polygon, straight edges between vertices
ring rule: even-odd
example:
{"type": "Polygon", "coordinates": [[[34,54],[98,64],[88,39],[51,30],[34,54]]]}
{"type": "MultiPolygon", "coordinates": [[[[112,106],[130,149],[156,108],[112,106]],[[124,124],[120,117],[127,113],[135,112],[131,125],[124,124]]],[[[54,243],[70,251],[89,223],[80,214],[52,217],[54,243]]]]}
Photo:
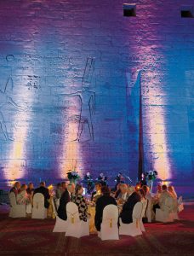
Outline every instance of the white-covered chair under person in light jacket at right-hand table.
{"type": "Polygon", "coordinates": [[[163,210],[156,210],[156,221],[163,223],[174,222],[173,204],[174,202],[172,197],[166,198],[163,210]]]}

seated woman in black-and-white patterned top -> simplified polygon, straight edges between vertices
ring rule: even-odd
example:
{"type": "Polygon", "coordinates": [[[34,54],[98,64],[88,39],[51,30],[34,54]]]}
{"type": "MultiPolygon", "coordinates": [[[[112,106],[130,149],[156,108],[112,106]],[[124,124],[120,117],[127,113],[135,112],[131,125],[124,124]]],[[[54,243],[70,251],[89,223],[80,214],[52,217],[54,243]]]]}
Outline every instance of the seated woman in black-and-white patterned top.
{"type": "Polygon", "coordinates": [[[87,211],[88,211],[88,206],[85,201],[85,198],[83,197],[83,186],[80,184],[76,185],[75,189],[75,197],[73,198],[72,202],[77,204],[78,211],[79,211],[79,218],[85,222],[87,222],[87,211]]]}

